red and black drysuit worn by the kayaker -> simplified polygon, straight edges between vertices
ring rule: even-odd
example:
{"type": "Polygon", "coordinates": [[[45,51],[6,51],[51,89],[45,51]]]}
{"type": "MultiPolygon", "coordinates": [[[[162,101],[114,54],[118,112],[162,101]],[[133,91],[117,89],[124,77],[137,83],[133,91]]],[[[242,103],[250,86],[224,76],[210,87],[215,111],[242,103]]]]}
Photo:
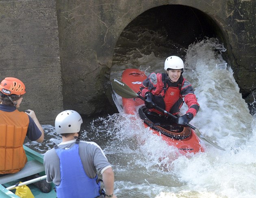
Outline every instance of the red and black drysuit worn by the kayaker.
{"type": "MultiPolygon", "coordinates": [[[[193,117],[200,107],[193,87],[182,75],[177,82],[171,83],[167,73],[151,73],[143,81],[140,90],[143,97],[146,92],[152,92],[156,105],[173,115],[179,114],[183,99],[189,107],[186,113],[192,113],[193,117]]],[[[149,109],[149,111],[163,114],[156,109],[149,109]]]]}

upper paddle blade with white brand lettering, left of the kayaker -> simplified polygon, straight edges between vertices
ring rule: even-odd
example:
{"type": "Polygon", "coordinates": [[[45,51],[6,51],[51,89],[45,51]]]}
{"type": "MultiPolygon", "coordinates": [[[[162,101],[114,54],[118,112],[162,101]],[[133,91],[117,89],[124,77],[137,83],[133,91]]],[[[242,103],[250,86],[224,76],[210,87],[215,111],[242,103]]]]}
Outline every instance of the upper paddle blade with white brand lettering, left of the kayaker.
{"type": "Polygon", "coordinates": [[[139,96],[130,87],[118,79],[112,79],[111,83],[115,93],[123,98],[137,98],[139,96]]]}

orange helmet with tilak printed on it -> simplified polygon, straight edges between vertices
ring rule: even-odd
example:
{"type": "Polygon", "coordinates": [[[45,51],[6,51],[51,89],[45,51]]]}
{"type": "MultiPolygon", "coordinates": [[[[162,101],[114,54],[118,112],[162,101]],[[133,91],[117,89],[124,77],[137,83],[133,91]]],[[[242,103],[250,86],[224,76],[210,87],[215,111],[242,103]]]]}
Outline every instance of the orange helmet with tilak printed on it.
{"type": "Polygon", "coordinates": [[[26,93],[26,87],[22,81],[13,77],[6,77],[0,84],[0,92],[4,95],[23,95],[26,93]]]}

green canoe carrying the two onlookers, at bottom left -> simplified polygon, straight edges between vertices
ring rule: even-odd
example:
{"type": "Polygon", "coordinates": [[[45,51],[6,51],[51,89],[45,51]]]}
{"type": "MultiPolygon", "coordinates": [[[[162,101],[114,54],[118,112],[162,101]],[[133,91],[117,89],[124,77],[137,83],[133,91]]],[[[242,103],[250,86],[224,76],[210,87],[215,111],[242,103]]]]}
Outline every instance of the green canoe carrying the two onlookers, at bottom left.
{"type": "Polygon", "coordinates": [[[13,188],[13,186],[20,181],[24,182],[24,184],[27,183],[26,185],[30,188],[35,198],[56,198],[56,192],[53,189],[54,184],[52,184],[52,190],[49,193],[43,193],[35,185],[33,185],[34,182],[46,178],[43,166],[43,155],[26,146],[23,147],[26,151],[28,162],[19,172],[0,177],[0,198],[19,198],[19,196],[15,195],[16,189],[11,188],[13,188]],[[42,177],[29,181],[24,179],[37,173],[42,177]]]}

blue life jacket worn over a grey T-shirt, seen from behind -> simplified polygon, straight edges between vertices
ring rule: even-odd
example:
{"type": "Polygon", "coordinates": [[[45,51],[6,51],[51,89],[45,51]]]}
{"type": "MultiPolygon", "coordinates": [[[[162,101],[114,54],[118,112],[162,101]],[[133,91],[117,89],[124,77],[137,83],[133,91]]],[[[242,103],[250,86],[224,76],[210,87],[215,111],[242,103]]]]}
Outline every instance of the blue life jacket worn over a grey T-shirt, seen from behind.
{"type": "Polygon", "coordinates": [[[98,175],[89,178],[83,168],[79,151],[79,139],[69,149],[54,146],[60,159],[61,183],[56,186],[58,198],[95,198],[100,196],[98,175]]]}

